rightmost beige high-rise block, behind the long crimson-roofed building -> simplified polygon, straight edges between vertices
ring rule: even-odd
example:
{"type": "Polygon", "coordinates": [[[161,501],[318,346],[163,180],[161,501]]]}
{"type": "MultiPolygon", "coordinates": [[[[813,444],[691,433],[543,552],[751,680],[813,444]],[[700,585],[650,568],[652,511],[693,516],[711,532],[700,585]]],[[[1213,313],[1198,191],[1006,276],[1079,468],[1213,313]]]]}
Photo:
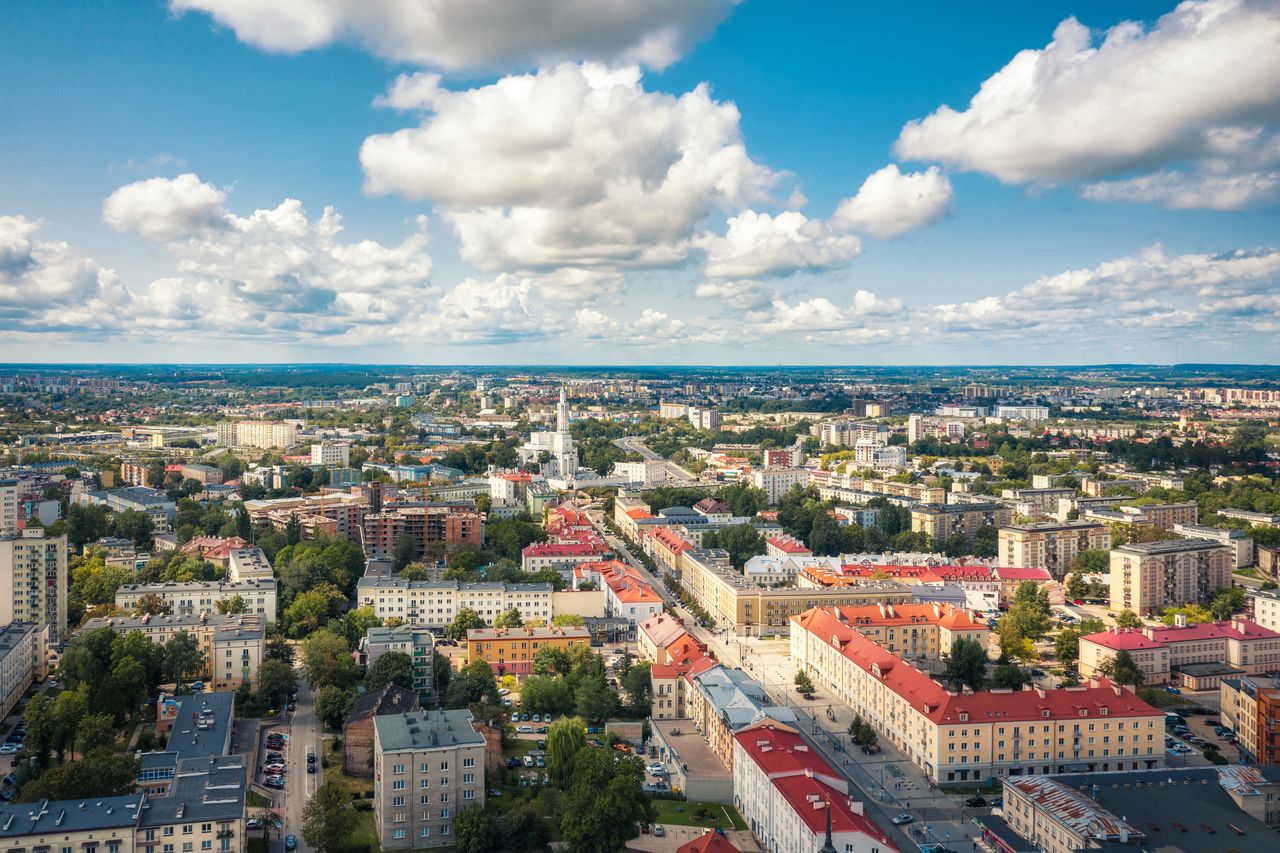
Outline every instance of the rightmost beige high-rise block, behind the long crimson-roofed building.
{"type": "Polygon", "coordinates": [[[1204,539],[1137,542],[1111,551],[1111,607],[1148,615],[1208,603],[1231,585],[1231,549],[1204,539]]]}

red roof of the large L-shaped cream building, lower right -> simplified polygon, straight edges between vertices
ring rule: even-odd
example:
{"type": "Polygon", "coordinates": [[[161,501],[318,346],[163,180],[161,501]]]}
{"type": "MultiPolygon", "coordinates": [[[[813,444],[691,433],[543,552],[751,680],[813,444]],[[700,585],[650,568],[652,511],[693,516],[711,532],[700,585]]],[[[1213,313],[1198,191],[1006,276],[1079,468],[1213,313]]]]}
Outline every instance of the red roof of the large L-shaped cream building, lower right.
{"type": "Polygon", "coordinates": [[[933,722],[959,724],[961,713],[966,713],[969,721],[974,722],[996,719],[1039,720],[1044,717],[1044,711],[1048,711],[1048,719],[1065,719],[1079,717],[1080,711],[1093,716],[1102,707],[1106,707],[1107,715],[1112,717],[1160,715],[1160,711],[1107,679],[1056,690],[951,693],[927,674],[838,621],[829,610],[809,610],[792,616],[791,621],[792,630],[808,630],[823,643],[838,646],[846,658],[870,672],[933,722]]]}

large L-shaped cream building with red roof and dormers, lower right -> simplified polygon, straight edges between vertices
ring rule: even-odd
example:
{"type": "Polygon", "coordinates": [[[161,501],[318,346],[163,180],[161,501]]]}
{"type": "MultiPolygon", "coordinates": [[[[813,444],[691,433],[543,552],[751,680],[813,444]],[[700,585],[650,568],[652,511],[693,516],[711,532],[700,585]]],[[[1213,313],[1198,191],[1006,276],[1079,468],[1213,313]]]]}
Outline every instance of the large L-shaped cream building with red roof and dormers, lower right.
{"type": "Polygon", "coordinates": [[[1164,766],[1164,713],[1106,679],[959,693],[831,613],[792,622],[791,662],[940,785],[1164,766]]]}

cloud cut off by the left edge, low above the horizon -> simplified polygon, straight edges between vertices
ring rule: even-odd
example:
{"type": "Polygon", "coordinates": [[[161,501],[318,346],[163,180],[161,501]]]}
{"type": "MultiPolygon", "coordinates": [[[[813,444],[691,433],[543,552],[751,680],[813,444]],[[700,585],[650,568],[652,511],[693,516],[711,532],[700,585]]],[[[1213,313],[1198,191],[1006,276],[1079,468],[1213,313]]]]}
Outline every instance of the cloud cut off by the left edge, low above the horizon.
{"type": "Polygon", "coordinates": [[[97,333],[128,309],[129,292],[113,270],[68,243],[37,237],[42,225],[0,216],[0,320],[6,333],[97,333]]]}

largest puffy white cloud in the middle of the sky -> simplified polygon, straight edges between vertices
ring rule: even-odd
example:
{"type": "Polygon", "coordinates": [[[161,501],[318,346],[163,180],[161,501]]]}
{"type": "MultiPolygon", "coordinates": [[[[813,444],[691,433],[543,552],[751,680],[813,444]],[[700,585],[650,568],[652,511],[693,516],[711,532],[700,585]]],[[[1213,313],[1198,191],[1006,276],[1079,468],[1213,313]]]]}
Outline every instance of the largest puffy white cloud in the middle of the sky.
{"type": "Polygon", "coordinates": [[[365,141],[366,190],[439,205],[486,270],[672,266],[716,209],[778,178],[748,155],[732,104],[705,86],[648,92],[635,67],[562,64],[461,91],[411,77],[381,102],[429,114],[365,141]]]}

